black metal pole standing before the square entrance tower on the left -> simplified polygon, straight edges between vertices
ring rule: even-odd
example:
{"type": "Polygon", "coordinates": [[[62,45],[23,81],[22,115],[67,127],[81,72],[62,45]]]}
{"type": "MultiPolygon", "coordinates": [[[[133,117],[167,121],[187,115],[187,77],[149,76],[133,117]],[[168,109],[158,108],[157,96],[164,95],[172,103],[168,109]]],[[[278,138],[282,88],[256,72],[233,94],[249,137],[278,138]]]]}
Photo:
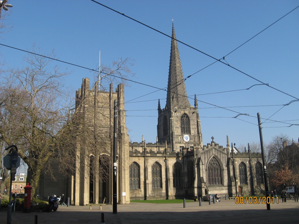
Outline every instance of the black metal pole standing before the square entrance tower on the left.
{"type": "Polygon", "coordinates": [[[114,100],[114,120],[113,120],[113,191],[112,205],[113,214],[117,214],[117,165],[116,165],[116,134],[117,134],[117,100],[114,100]]]}

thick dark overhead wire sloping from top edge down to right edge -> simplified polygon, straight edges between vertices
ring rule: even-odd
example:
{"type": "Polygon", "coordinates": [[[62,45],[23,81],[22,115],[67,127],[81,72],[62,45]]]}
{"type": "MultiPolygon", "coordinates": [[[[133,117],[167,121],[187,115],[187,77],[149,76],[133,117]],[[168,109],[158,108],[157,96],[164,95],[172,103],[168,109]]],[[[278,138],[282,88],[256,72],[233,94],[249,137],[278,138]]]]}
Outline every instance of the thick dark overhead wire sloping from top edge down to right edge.
{"type": "MultiPolygon", "coordinates": [[[[224,65],[226,65],[226,66],[229,66],[229,67],[231,67],[231,68],[234,69],[234,70],[237,70],[238,72],[240,72],[240,73],[242,73],[242,74],[244,74],[244,75],[246,75],[246,76],[248,76],[248,77],[250,77],[250,78],[256,80],[257,82],[260,82],[260,83],[262,83],[262,84],[264,84],[264,85],[267,85],[266,83],[264,83],[264,82],[262,82],[262,81],[260,81],[260,80],[258,80],[258,79],[256,79],[256,78],[254,78],[253,76],[250,76],[249,74],[247,74],[247,73],[245,73],[245,72],[242,72],[241,70],[239,70],[239,69],[237,69],[237,68],[235,68],[235,67],[233,67],[233,66],[231,66],[231,65],[229,65],[229,64],[226,64],[225,62],[222,62],[221,59],[216,59],[215,57],[213,57],[213,56],[211,56],[211,55],[209,55],[209,54],[207,54],[207,53],[205,53],[205,52],[203,52],[203,51],[201,51],[201,50],[198,50],[198,49],[196,49],[195,47],[192,47],[192,46],[190,46],[190,45],[187,45],[186,43],[184,43],[184,42],[182,42],[182,41],[180,41],[180,40],[178,40],[178,39],[172,38],[171,36],[167,35],[166,33],[163,33],[163,32],[161,32],[161,31],[159,31],[159,30],[157,30],[157,29],[155,29],[155,28],[153,28],[153,27],[150,27],[150,26],[148,26],[147,24],[144,24],[144,23],[142,23],[142,22],[140,22],[140,21],[138,21],[138,20],[136,20],[136,19],[133,19],[132,17],[126,16],[124,13],[120,13],[120,12],[118,12],[118,11],[116,11],[116,10],[114,10],[114,9],[112,9],[112,8],[110,8],[110,7],[106,6],[106,5],[104,5],[104,4],[101,4],[101,3],[97,2],[97,1],[94,1],[94,0],[91,0],[91,1],[93,1],[94,3],[97,3],[97,4],[99,4],[99,5],[101,5],[101,6],[103,6],[103,7],[106,7],[107,9],[110,9],[110,10],[112,10],[112,11],[114,11],[114,12],[116,12],[116,13],[122,15],[122,16],[125,16],[125,17],[128,18],[128,19],[131,19],[131,20],[133,20],[133,21],[135,21],[135,22],[138,22],[138,23],[140,23],[140,24],[142,24],[142,25],[144,25],[144,26],[146,26],[146,27],[148,27],[148,28],[150,28],[150,29],[152,29],[152,30],[155,30],[156,32],[161,33],[161,34],[163,34],[164,36],[170,37],[171,39],[174,39],[174,40],[176,40],[177,42],[180,42],[181,44],[183,44],[183,45],[185,45],[185,46],[187,46],[187,47],[190,47],[190,48],[192,48],[193,50],[196,50],[196,51],[198,51],[198,52],[200,52],[200,53],[202,53],[202,54],[204,54],[204,55],[206,55],[206,56],[208,56],[208,57],[210,57],[210,58],[216,60],[216,62],[217,62],[217,61],[218,61],[218,62],[221,62],[222,64],[224,64],[224,65]]],[[[298,7],[299,7],[299,6],[298,6],[298,7]]],[[[298,7],[296,7],[295,9],[297,9],[298,7]]],[[[295,9],[293,9],[292,11],[294,11],[295,9]]],[[[292,11],[291,11],[291,12],[292,12],[292,11]]],[[[288,14],[289,14],[289,13],[288,13],[288,14]]],[[[188,77],[187,77],[187,78],[188,78],[188,77]]],[[[281,93],[284,93],[284,94],[286,94],[286,95],[288,95],[288,96],[291,96],[291,97],[293,97],[293,98],[295,98],[295,99],[298,99],[297,97],[292,96],[292,95],[290,95],[290,94],[288,94],[288,93],[285,93],[285,92],[283,92],[283,91],[281,91],[281,90],[279,90],[279,89],[277,89],[277,88],[274,88],[274,87],[272,87],[272,86],[270,86],[270,85],[267,85],[267,86],[269,86],[270,88],[272,88],[272,89],[274,89],[274,90],[277,90],[277,91],[279,91],[279,92],[281,92],[281,93]]],[[[298,100],[299,100],[299,99],[298,99],[298,100]]]]}

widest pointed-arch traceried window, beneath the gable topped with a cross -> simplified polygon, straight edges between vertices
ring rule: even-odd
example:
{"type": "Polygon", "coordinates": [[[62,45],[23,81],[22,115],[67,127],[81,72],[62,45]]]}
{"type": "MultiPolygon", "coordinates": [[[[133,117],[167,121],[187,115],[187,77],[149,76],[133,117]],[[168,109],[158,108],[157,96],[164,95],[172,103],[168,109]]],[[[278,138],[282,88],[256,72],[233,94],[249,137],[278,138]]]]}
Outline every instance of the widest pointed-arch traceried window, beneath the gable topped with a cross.
{"type": "Polygon", "coordinates": [[[209,185],[222,185],[221,165],[216,157],[213,157],[208,164],[208,183],[209,185]]]}

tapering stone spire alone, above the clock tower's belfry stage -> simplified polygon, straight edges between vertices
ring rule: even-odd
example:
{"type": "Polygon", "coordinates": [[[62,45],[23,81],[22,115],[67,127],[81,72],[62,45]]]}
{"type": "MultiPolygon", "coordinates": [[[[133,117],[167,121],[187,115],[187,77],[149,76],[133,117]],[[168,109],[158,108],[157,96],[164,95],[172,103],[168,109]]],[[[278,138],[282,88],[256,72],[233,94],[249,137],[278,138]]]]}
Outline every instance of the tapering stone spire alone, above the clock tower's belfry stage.
{"type": "Polygon", "coordinates": [[[165,108],[173,105],[183,105],[190,107],[190,102],[187,98],[183,70],[181,66],[179,48],[176,41],[176,33],[174,31],[174,25],[172,24],[172,40],[168,74],[167,100],[165,108]]]}

